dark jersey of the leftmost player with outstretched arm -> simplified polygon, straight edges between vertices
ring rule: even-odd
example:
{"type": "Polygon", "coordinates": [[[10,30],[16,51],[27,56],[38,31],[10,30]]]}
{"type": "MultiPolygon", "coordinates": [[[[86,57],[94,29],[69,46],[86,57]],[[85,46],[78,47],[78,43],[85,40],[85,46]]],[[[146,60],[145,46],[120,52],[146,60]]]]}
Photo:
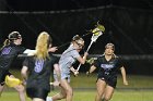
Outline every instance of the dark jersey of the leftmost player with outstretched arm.
{"type": "Polygon", "coordinates": [[[10,43],[0,50],[0,70],[9,70],[15,58],[25,51],[24,47],[10,43]]]}

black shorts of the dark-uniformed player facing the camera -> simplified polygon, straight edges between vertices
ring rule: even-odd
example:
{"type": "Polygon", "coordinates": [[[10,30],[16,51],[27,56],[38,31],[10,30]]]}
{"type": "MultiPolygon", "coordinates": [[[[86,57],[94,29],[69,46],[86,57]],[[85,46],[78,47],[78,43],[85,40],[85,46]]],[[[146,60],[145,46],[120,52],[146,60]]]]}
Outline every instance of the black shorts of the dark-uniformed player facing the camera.
{"type": "Polygon", "coordinates": [[[106,84],[113,88],[116,88],[117,85],[117,76],[98,76],[97,79],[102,79],[106,81],[106,84]]]}

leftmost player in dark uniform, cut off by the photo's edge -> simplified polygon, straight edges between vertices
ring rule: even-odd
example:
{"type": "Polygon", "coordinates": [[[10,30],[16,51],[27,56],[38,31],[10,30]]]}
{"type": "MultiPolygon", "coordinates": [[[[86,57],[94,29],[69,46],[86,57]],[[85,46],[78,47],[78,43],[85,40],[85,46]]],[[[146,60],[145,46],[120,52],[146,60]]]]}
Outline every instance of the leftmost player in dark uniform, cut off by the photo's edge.
{"type": "MultiPolygon", "coordinates": [[[[9,35],[9,39],[4,41],[4,46],[0,50],[0,94],[2,93],[4,87],[5,76],[14,78],[14,76],[9,72],[11,64],[16,59],[17,54],[23,53],[25,48],[21,47],[22,37],[19,31],[12,31],[9,35]]],[[[21,101],[25,101],[24,97],[24,86],[17,85],[14,87],[20,94],[21,101]]]]}

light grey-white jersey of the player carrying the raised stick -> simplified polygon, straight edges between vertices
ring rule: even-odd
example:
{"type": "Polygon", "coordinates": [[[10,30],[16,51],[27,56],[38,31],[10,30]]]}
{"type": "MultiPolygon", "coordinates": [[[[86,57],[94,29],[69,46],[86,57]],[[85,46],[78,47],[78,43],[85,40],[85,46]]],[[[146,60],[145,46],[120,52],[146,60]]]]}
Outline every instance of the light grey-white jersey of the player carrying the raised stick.
{"type": "Polygon", "coordinates": [[[75,62],[76,58],[81,56],[72,45],[61,54],[59,66],[62,74],[70,74],[70,67],[75,62]]]}

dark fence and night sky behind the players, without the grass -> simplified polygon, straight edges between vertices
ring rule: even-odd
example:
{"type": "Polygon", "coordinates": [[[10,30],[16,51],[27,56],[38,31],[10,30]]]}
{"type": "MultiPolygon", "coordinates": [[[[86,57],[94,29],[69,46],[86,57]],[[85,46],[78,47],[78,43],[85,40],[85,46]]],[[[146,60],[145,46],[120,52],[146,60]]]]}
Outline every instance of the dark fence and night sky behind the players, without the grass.
{"type": "MultiPolygon", "coordinates": [[[[128,74],[153,75],[153,0],[0,0],[0,46],[13,30],[21,33],[28,49],[35,49],[43,30],[50,34],[54,46],[61,46],[74,35],[87,34],[97,22],[106,31],[90,54],[103,54],[105,45],[113,42],[128,74]]],[[[91,36],[83,38],[86,49],[91,36]]],[[[62,46],[56,54],[67,48],[62,46]]],[[[21,67],[19,61],[14,68],[21,67]]]]}

